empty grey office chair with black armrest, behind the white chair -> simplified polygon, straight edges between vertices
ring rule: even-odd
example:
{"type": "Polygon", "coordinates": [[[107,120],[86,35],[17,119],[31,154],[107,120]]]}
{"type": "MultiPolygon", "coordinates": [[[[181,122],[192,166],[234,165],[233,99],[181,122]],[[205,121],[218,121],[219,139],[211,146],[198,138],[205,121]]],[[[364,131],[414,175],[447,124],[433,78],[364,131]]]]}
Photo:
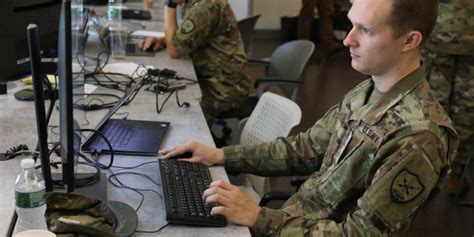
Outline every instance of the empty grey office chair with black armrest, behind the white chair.
{"type": "Polygon", "coordinates": [[[221,145],[226,145],[231,129],[224,119],[243,119],[252,113],[260,96],[270,88],[276,87],[285,97],[295,101],[298,86],[303,70],[314,51],[314,44],[309,40],[295,40],[279,46],[272,54],[270,62],[249,60],[266,67],[264,78],[254,83],[256,95],[249,96],[237,109],[221,113],[216,116],[215,123],[222,124],[222,138],[218,139],[221,145]]]}

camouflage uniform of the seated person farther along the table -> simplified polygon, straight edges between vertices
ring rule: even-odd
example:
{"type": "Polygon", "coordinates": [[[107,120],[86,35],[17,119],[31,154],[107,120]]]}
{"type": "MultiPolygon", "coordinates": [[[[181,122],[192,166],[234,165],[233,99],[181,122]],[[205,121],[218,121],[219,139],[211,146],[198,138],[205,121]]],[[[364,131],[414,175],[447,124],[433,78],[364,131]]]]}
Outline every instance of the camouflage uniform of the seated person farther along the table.
{"type": "Polygon", "coordinates": [[[237,108],[247,98],[247,56],[226,0],[188,0],[173,45],[193,60],[208,124],[219,112],[237,108]]]}

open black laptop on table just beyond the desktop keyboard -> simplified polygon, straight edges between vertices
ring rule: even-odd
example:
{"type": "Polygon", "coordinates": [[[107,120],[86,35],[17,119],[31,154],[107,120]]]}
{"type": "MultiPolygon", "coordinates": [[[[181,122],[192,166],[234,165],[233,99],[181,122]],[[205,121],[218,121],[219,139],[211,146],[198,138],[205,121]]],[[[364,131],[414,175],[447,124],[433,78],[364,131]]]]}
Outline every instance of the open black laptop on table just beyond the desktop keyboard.
{"type": "MultiPolygon", "coordinates": [[[[114,154],[156,155],[161,141],[168,130],[169,122],[131,119],[112,119],[112,115],[140,88],[141,80],[112,107],[97,124],[95,130],[107,137],[114,154]]],[[[89,136],[82,150],[91,153],[110,153],[105,139],[98,133],[89,136]]]]}

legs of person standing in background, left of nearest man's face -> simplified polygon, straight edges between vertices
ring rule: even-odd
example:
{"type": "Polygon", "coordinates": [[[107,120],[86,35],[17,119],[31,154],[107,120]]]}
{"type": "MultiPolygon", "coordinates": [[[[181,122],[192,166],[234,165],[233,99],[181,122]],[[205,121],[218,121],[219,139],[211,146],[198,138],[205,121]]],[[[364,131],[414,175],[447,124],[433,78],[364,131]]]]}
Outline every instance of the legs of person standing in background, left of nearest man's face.
{"type": "Polygon", "coordinates": [[[298,17],[298,39],[310,39],[315,7],[318,8],[319,35],[322,48],[324,53],[329,56],[344,48],[334,37],[332,22],[334,0],[302,0],[298,17]]]}

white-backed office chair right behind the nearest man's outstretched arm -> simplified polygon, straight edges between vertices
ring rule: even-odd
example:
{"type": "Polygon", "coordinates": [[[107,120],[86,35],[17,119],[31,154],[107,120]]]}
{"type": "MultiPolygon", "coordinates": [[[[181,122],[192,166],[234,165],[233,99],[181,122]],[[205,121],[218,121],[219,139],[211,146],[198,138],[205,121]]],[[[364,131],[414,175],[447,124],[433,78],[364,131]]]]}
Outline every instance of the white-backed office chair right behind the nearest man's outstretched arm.
{"type": "MultiPolygon", "coordinates": [[[[234,144],[254,145],[286,137],[300,120],[301,109],[295,102],[272,92],[265,92],[250,117],[240,121],[236,130],[239,139],[234,139],[234,144]]],[[[233,183],[240,183],[241,190],[255,202],[259,202],[270,187],[268,178],[256,175],[234,176],[232,180],[233,183]]]]}

